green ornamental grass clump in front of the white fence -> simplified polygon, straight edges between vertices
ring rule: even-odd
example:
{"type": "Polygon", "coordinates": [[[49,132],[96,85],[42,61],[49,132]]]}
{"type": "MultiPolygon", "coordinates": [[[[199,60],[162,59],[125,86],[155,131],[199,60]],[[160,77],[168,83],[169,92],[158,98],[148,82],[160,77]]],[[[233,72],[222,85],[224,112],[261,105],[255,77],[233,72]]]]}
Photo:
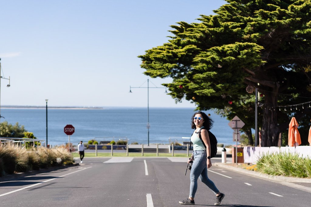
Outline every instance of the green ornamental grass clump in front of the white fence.
{"type": "Polygon", "coordinates": [[[257,171],[270,175],[311,178],[311,159],[284,152],[266,154],[258,160],[257,171]]]}

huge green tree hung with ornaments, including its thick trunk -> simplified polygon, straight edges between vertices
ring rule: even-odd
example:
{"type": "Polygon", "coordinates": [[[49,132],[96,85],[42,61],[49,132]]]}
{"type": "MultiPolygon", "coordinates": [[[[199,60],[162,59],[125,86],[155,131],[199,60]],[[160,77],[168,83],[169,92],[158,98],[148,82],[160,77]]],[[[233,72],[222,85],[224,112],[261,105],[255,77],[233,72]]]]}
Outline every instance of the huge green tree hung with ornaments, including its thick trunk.
{"type": "Polygon", "coordinates": [[[262,146],[276,146],[292,116],[310,116],[311,2],[226,2],[215,15],[201,15],[199,23],[172,25],[167,43],[138,56],[141,67],[151,77],[171,77],[163,85],[176,101],[245,117],[252,128],[248,100],[254,95],[245,89],[258,88],[262,146]]]}

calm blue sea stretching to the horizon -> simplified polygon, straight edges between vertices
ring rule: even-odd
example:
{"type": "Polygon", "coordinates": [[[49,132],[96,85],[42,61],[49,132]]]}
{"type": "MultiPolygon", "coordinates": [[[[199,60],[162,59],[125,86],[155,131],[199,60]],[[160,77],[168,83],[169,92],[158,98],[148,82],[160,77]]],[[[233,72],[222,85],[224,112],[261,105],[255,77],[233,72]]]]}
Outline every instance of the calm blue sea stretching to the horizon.
{"type": "MultiPolygon", "coordinates": [[[[213,111],[214,120],[211,132],[215,134],[218,143],[233,145],[233,130],[229,121],[213,111]]],[[[193,133],[191,119],[192,108],[149,108],[149,143],[168,144],[172,141],[182,143],[193,133]]],[[[38,139],[46,140],[46,110],[2,108],[1,122],[10,124],[18,122],[25,129],[33,132],[38,139]]],[[[91,139],[97,141],[110,141],[128,139],[129,143],[148,143],[147,108],[104,108],[104,109],[49,109],[48,108],[48,144],[58,145],[68,142],[68,135],[64,127],[71,124],[75,133],[70,141],[78,144],[80,140],[87,142],[91,139]]]]}

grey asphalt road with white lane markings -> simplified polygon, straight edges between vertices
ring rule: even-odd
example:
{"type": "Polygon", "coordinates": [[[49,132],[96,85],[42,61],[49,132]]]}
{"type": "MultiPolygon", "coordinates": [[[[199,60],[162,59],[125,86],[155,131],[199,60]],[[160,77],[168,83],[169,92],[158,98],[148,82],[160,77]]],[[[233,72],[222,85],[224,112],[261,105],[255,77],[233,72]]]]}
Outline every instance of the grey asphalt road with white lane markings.
{"type": "MultiPolygon", "coordinates": [[[[187,158],[85,158],[80,166],[0,182],[1,206],[174,207],[189,195],[187,158]]],[[[216,165],[208,172],[225,193],[221,206],[310,206],[311,193],[216,165]]],[[[214,206],[200,181],[195,203],[214,206]]]]}

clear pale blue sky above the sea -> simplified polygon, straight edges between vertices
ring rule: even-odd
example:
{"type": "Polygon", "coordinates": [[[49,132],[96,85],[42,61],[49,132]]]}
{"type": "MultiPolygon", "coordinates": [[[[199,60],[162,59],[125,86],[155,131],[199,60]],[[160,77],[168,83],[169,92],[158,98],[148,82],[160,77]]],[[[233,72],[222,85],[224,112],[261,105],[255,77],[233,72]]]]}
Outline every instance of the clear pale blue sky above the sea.
{"type": "MultiPolygon", "coordinates": [[[[147,106],[141,86],[146,50],[167,42],[170,25],[198,22],[222,0],[2,1],[1,105],[147,106]]],[[[150,79],[157,87],[171,79],[150,79]]],[[[150,86],[153,84],[150,83],[150,86]]],[[[143,86],[147,86],[147,83],[143,86]]],[[[165,89],[149,89],[150,107],[175,104],[165,89]]]]}

